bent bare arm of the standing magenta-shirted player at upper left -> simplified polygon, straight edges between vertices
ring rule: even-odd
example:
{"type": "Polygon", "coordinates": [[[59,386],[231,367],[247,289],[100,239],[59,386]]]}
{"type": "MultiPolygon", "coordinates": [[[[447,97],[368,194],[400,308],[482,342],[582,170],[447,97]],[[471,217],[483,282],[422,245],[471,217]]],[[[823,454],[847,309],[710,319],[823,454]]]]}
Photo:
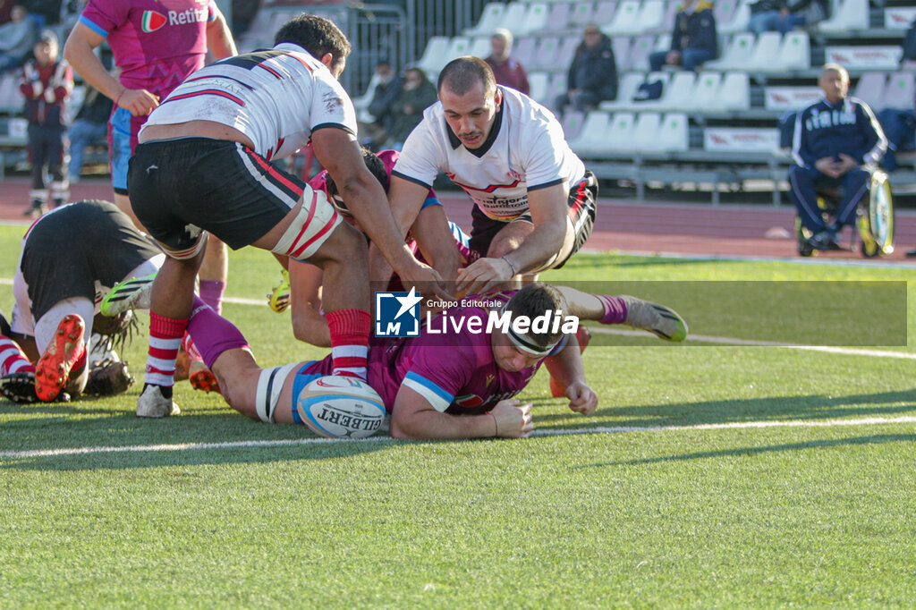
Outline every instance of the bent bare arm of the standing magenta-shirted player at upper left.
{"type": "Polygon", "coordinates": [[[82,76],[83,81],[114,100],[119,108],[130,111],[134,116],[151,113],[159,104],[158,95],[146,89],[127,89],[109,74],[93,52],[103,40],[101,34],[85,24],[77,23],[63,46],[63,57],[82,76]]]}

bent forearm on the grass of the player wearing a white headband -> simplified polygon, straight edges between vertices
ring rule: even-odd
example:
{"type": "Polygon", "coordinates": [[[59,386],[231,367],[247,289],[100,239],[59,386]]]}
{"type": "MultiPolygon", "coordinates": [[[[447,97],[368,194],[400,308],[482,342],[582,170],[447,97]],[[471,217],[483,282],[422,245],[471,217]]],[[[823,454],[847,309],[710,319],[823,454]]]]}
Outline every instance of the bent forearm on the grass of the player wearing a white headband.
{"type": "Polygon", "coordinates": [[[450,415],[432,407],[414,389],[402,385],[391,410],[391,436],[396,439],[518,439],[534,429],[531,404],[500,400],[483,415],[450,415]]]}

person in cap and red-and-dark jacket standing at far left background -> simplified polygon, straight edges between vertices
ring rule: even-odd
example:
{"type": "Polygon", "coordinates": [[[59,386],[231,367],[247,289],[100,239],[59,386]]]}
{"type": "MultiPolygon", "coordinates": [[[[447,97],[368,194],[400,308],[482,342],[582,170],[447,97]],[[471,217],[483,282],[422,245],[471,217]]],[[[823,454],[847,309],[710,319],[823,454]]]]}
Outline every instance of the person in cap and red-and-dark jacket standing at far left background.
{"type": "Polygon", "coordinates": [[[23,66],[19,90],[26,98],[28,119],[28,156],[32,161],[31,207],[27,216],[40,216],[48,211],[48,188],[44,169],[51,179],[54,207],[70,197],[70,185],[64,174],[63,159],[67,155],[65,104],[73,90],[73,71],[66,61],[58,60],[58,38],[45,30],[35,43],[35,59],[23,66]]]}

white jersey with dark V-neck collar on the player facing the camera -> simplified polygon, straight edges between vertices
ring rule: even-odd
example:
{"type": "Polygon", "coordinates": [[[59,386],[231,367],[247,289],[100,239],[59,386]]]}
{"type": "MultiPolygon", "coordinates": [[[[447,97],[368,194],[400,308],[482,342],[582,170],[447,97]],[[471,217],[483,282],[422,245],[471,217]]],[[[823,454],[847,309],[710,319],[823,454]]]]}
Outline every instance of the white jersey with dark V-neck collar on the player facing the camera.
{"type": "Polygon", "coordinates": [[[550,110],[514,89],[499,87],[503,103],[484,146],[463,146],[445,122],[442,103],[423,113],[392,175],[431,187],[439,170],[488,217],[511,221],[528,212],[528,191],[582,180],[585,166],[566,143],[550,110]]]}

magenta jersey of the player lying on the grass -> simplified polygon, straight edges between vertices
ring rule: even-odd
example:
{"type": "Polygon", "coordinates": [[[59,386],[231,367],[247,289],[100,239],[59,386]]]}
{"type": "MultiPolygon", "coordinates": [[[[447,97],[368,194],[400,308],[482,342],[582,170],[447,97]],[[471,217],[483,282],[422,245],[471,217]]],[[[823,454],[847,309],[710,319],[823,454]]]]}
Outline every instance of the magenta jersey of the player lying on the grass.
{"type": "MultiPolygon", "coordinates": [[[[515,291],[487,295],[486,300],[508,300],[515,291]]],[[[476,308],[448,310],[450,318],[480,317],[487,311],[476,308]]],[[[416,338],[369,339],[368,382],[374,387],[390,412],[400,387],[407,386],[426,398],[440,412],[453,415],[485,413],[506,398],[512,398],[528,386],[538,372],[537,365],[511,373],[496,365],[490,334],[462,331],[453,327],[444,334],[424,329],[416,338]]],[[[298,372],[293,396],[299,396],[313,376],[331,375],[331,356],[303,366],[298,372]]],[[[296,409],[293,408],[295,411],[296,409]]]]}

